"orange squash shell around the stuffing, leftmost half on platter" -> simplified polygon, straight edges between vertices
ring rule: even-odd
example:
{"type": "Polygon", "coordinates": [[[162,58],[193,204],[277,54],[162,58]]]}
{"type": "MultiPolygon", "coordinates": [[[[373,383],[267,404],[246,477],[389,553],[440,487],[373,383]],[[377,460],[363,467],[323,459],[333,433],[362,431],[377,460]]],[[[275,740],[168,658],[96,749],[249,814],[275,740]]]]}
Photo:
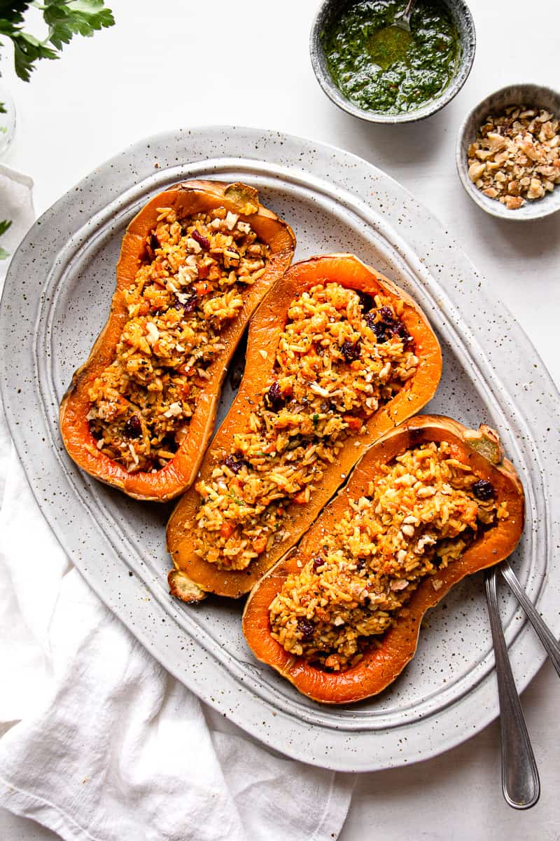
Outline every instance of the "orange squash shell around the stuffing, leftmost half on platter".
{"type": "Polygon", "coordinates": [[[260,205],[256,191],[245,185],[228,185],[217,181],[183,182],[159,193],[144,205],[128,225],[123,237],[117,265],[117,286],[107,324],[97,337],[86,362],[74,373],[71,386],[60,404],[62,440],[78,467],[137,500],[165,502],[180,495],[191,484],[212,435],[228,362],[254,309],[290,265],[295,246],[296,237],[290,226],[260,205]],[[116,346],[128,320],[123,294],[134,281],[144,255],[145,237],[156,224],[157,209],[170,207],[181,216],[189,216],[219,206],[238,213],[243,221],[249,222],[259,237],[270,246],[270,260],[264,275],[253,286],[243,290],[243,308],[222,332],[225,348],[208,368],[210,378],[199,394],[189,433],[175,452],[175,457],[157,473],[128,473],[120,464],[97,450],[86,420],[90,405],[88,390],[93,380],[113,362],[116,346]]]}

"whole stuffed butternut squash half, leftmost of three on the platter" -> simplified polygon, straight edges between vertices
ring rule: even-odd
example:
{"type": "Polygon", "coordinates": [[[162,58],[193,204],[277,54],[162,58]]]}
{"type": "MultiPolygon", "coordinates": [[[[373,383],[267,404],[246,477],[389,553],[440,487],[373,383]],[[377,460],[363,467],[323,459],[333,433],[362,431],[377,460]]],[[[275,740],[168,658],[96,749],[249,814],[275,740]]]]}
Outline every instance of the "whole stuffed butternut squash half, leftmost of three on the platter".
{"type": "Polygon", "coordinates": [[[139,500],[191,484],[228,362],[295,244],[244,184],[191,181],[150,199],[124,235],[107,324],[60,405],[80,468],[139,500]]]}

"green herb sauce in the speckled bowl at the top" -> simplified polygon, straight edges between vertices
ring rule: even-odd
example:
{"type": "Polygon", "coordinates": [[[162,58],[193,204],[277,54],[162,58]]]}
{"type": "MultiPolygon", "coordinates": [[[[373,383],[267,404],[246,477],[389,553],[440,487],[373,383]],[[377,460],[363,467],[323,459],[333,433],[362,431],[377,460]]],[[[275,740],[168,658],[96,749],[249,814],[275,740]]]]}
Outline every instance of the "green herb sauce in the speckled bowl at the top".
{"type": "Polygon", "coordinates": [[[332,81],[367,111],[402,114],[435,99],[458,67],[458,33],[438,0],[421,0],[411,31],[391,25],[399,0],[358,0],[322,32],[332,81]]]}

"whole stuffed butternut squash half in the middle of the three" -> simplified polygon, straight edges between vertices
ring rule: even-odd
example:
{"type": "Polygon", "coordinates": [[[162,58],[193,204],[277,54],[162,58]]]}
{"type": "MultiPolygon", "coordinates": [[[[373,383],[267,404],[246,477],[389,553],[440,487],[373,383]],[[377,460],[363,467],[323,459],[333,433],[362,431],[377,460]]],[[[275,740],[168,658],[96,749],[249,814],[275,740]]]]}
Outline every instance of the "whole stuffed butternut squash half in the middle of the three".
{"type": "Polygon", "coordinates": [[[247,593],[441,370],[425,315],[379,272],[351,254],[292,266],[251,320],[238,395],[170,518],[171,593],[247,593]]]}

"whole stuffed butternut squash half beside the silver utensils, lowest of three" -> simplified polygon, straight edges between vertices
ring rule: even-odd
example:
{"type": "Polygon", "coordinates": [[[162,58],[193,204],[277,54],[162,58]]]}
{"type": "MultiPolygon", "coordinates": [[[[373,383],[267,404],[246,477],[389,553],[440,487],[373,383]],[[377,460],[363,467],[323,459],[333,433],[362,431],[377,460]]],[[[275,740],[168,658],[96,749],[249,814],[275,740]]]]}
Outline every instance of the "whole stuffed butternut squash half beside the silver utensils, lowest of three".
{"type": "Polygon", "coordinates": [[[422,616],[465,575],[506,558],[523,489],[495,431],[418,416],[379,439],[292,553],[254,587],[255,656],[315,701],[385,689],[422,616]]]}

